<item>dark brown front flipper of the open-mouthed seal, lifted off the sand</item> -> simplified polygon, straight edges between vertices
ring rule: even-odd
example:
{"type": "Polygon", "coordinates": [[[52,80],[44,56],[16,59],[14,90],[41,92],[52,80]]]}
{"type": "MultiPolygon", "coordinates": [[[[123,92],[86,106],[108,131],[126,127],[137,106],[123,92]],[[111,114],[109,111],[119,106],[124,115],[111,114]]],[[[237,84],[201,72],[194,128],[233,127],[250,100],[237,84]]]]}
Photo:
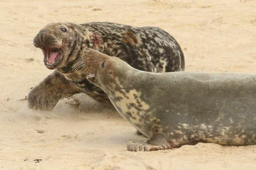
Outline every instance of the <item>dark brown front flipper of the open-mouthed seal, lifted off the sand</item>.
{"type": "Polygon", "coordinates": [[[37,86],[32,88],[27,97],[28,107],[34,110],[51,111],[62,98],[81,93],[58,71],[54,71],[37,86]]]}

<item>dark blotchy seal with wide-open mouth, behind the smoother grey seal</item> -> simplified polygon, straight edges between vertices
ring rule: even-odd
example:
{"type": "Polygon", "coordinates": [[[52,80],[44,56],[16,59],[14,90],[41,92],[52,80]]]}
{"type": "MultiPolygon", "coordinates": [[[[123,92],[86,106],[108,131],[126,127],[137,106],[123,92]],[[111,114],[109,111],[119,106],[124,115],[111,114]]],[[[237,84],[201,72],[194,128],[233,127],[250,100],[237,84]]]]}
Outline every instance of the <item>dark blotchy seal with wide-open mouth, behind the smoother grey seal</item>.
{"type": "Polygon", "coordinates": [[[35,110],[50,111],[59,99],[78,93],[108,104],[107,94],[87,81],[87,72],[81,71],[81,55],[86,48],[116,56],[143,71],[183,71],[185,65],[177,41],[166,31],[150,26],[50,23],[39,31],[33,44],[43,51],[44,65],[55,69],[28,94],[28,107],[35,110]]]}

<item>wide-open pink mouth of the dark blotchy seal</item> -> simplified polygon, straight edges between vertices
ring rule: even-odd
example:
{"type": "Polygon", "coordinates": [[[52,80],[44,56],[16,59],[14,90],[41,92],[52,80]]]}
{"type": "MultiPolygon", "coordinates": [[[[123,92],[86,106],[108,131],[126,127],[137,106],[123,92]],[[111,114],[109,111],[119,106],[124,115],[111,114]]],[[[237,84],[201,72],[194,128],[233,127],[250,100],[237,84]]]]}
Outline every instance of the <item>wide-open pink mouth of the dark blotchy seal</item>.
{"type": "Polygon", "coordinates": [[[44,48],[44,65],[50,67],[56,67],[61,63],[61,48],[51,48],[45,47],[44,48]]]}

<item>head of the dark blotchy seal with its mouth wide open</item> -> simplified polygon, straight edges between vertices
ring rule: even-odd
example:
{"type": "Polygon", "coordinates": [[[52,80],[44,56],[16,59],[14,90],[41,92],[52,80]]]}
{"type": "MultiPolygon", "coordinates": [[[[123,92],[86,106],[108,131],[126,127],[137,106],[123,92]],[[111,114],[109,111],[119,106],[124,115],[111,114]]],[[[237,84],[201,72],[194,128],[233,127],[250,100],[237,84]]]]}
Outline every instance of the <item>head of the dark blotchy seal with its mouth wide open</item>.
{"type": "Polygon", "coordinates": [[[75,59],[76,56],[73,54],[80,50],[78,46],[82,46],[83,39],[79,37],[77,26],[73,25],[71,23],[50,23],[35,36],[33,44],[43,51],[44,65],[47,68],[62,68],[75,59]]]}

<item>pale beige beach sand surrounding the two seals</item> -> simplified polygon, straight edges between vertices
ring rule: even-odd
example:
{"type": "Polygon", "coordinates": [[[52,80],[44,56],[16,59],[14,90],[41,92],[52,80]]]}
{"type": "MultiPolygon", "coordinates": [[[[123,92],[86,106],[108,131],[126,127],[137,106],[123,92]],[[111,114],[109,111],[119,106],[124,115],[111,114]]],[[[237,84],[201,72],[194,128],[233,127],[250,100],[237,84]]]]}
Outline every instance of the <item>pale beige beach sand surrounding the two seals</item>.
{"type": "Polygon", "coordinates": [[[179,42],[186,71],[255,73],[256,0],[0,0],[0,170],[255,170],[256,146],[199,143],[154,152],[116,111],[85,95],[50,112],[25,96],[52,71],[33,37],[51,22],[157,26],[179,42]],[[33,161],[41,159],[41,161],[33,161]]]}

